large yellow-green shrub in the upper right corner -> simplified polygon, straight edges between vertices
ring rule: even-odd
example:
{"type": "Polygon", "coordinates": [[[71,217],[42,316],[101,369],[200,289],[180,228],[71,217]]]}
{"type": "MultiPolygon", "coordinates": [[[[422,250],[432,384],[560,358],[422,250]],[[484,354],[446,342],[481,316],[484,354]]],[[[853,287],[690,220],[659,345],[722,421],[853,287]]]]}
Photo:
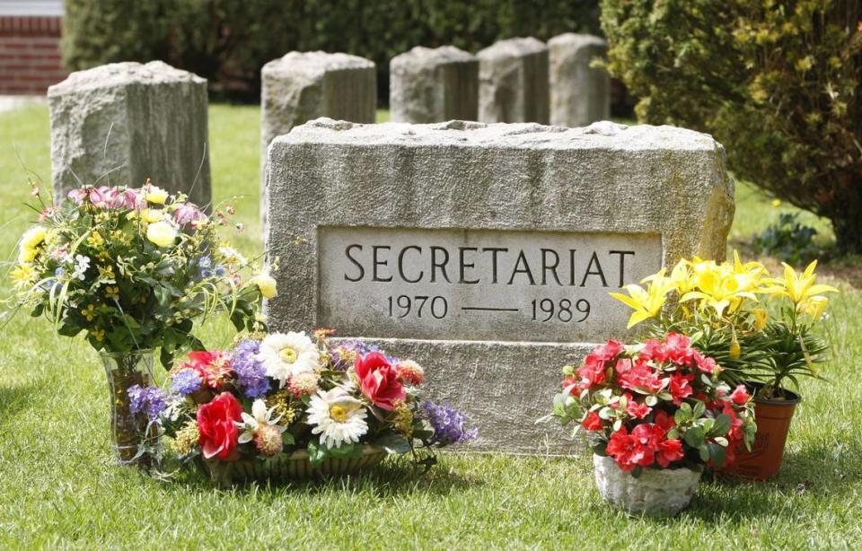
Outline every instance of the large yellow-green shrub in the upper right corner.
{"type": "Polygon", "coordinates": [[[603,0],[638,118],[711,132],[731,167],[862,252],[858,0],[603,0]]]}

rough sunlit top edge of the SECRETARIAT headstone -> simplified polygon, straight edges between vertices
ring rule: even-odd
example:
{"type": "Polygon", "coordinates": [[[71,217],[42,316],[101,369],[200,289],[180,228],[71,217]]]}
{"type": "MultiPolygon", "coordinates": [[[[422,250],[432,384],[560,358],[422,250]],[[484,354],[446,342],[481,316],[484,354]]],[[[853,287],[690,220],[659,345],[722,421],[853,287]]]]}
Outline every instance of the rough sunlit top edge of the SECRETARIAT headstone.
{"type": "Polygon", "coordinates": [[[272,144],[402,144],[412,146],[497,146],[533,149],[602,149],[622,151],[715,151],[720,145],[708,134],[678,127],[638,125],[610,121],[589,127],[547,127],[536,123],[483,124],[451,120],[430,125],[383,123],[362,125],[331,118],[316,118],[272,144]]]}

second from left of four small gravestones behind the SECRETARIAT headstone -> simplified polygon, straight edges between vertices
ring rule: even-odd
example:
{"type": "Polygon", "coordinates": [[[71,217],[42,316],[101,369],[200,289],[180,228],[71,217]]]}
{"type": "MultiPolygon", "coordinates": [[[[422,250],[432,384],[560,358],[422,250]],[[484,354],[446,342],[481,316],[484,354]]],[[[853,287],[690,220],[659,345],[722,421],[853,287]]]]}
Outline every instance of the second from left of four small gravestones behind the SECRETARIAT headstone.
{"type": "Polygon", "coordinates": [[[479,59],[453,46],[423,48],[389,64],[393,122],[429,123],[479,115],[479,59]]]}

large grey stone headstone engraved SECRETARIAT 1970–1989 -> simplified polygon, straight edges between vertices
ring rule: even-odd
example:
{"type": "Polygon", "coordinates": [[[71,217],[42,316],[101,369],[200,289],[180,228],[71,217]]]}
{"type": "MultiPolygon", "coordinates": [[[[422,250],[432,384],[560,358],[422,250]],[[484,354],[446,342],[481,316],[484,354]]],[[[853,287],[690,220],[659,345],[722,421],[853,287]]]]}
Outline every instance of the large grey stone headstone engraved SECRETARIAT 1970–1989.
{"type": "Polygon", "coordinates": [[[559,368],[626,337],[609,291],[724,257],[733,193],[721,145],[680,128],[318,119],[269,149],[269,323],[416,359],[474,449],[567,453],[533,423],[559,368]]]}

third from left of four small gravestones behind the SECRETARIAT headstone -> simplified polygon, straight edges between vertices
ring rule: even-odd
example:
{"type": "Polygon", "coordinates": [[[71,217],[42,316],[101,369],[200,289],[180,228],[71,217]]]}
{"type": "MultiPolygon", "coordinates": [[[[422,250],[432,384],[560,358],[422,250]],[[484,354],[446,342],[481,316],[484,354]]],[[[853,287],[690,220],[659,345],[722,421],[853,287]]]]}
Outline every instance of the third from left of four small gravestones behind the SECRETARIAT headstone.
{"type": "Polygon", "coordinates": [[[479,57],[479,120],[548,124],[548,48],[533,38],[501,40],[479,57]]]}

